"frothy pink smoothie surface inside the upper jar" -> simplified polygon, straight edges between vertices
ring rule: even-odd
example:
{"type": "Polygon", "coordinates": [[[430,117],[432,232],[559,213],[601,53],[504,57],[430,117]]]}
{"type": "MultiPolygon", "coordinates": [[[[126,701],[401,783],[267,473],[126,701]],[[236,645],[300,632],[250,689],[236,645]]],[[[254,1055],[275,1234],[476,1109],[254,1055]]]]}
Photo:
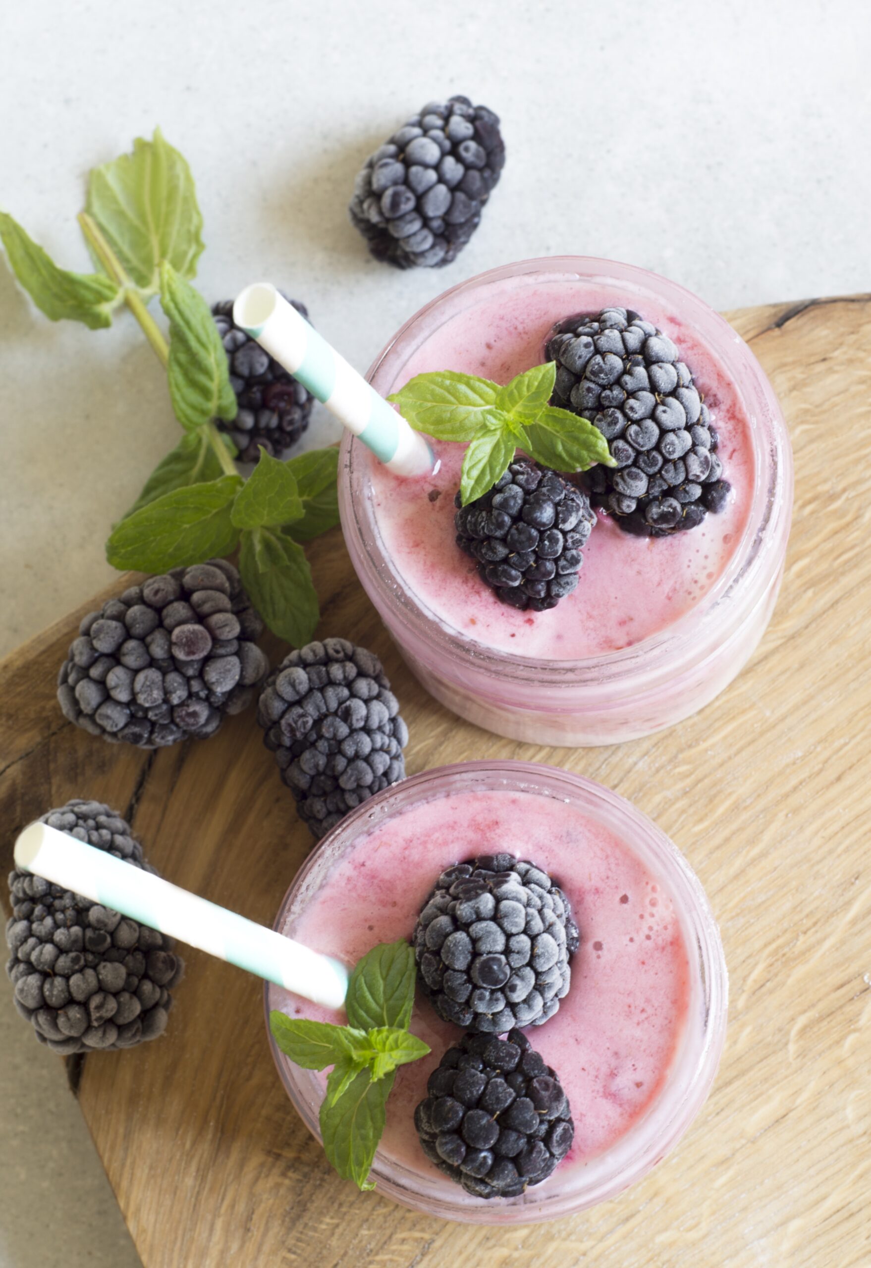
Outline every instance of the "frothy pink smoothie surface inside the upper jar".
{"type": "Polygon", "coordinates": [[[404,588],[451,631],[501,652],[579,661],[630,647],[666,629],[716,583],[740,541],[751,510],[754,458],[749,424],[735,385],[680,316],[647,297],[602,289],[593,281],[503,280],[484,288],[473,307],[450,317],[418,346],[392,385],[416,374],[453,369],[507,383],[544,360],[555,322],[609,304],[643,307],[677,344],[719,432],[719,455],[733,492],[719,515],[690,533],[634,538],[600,515],[584,548],[578,588],[548,612],[501,604],[454,541],[454,493],[463,445],[436,444],[441,460],[427,481],[401,479],[371,459],[369,474],[378,531],[404,588]]]}

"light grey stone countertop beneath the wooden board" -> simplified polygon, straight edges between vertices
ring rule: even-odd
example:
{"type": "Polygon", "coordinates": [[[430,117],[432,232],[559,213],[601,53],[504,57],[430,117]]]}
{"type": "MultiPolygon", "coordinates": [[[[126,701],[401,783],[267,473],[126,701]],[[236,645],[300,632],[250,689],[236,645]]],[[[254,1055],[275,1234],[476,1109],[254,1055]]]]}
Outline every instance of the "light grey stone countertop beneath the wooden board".
{"type": "MultiPolygon", "coordinates": [[[[89,268],[87,169],[160,124],[197,179],[209,302],[269,278],[363,370],[442,289],[535,255],[628,260],[718,308],[871,290],[866,0],[46,0],[3,48],[0,207],[62,266],[89,268]],[[507,165],[455,264],[396,273],[347,221],[354,176],[451,93],[502,117],[507,165]]],[[[109,526],[180,432],[126,312],[52,325],[0,264],[0,347],[1,654],[112,579],[109,526]]],[[[307,444],[336,437],[318,407],[307,444]]],[[[0,999],[0,1268],[128,1268],[61,1064],[0,999]]]]}

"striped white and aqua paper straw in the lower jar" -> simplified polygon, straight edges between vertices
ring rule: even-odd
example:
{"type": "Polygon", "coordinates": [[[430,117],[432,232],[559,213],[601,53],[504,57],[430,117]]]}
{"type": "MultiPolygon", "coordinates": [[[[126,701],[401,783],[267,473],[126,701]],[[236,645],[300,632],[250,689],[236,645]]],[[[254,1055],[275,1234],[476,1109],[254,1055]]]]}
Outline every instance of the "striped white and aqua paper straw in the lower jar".
{"type": "Polygon", "coordinates": [[[47,823],[32,823],[20,833],[15,866],[316,1004],[341,1008],[345,1003],[349,974],[339,960],[189,894],[152,872],[131,867],[47,823]]]}

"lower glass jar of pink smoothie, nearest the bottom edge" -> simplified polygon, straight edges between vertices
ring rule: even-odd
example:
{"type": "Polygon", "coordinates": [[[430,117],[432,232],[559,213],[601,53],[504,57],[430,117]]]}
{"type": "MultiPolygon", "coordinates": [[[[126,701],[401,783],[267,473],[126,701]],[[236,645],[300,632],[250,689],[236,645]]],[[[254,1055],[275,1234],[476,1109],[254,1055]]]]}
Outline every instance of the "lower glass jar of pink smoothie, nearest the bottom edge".
{"type": "MultiPolygon", "coordinates": [[[[413,1125],[426,1082],[460,1030],[417,992],[411,1030],[431,1052],[402,1066],[371,1178],[449,1220],[529,1224],[615,1197],[672,1149],[702,1106],[723,1049],[726,967],[704,890],[677,847],[607,789],[550,766],[469,762],[379,792],[313,851],[275,928],[352,964],[408,938],[440,872],[507,851],[546,870],[581,929],[559,1011],[525,1033],[559,1075],[574,1118],[568,1155],[516,1198],[479,1198],[425,1156],[413,1125]]],[[[341,1021],[278,987],[266,1013],[341,1021]]],[[[271,1037],[270,1037],[271,1041],[271,1037]]],[[[284,1085],[318,1136],[326,1077],[273,1042],[284,1085]]]]}

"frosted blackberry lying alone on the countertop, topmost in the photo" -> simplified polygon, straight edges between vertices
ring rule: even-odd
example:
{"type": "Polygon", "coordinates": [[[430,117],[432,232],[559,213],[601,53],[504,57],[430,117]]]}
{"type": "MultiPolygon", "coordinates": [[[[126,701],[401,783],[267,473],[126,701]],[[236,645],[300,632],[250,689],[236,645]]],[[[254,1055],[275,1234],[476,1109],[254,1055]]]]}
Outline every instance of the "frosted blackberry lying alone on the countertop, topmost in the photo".
{"type": "Polygon", "coordinates": [[[430,101],[366,160],[351,221],[377,260],[440,268],[478,228],[503,164],[497,114],[468,96],[430,101]]]}

